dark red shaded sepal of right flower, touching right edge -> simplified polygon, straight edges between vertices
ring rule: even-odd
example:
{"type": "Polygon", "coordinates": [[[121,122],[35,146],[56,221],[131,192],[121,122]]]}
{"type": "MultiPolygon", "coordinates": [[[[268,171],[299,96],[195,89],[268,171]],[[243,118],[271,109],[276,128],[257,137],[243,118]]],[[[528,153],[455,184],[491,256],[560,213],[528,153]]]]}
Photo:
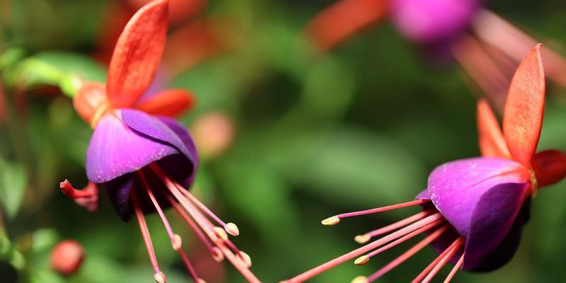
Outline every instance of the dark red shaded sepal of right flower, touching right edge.
{"type": "Polygon", "coordinates": [[[566,154],[556,150],[541,151],[533,158],[533,170],[539,187],[558,183],[566,177],[566,154]]]}

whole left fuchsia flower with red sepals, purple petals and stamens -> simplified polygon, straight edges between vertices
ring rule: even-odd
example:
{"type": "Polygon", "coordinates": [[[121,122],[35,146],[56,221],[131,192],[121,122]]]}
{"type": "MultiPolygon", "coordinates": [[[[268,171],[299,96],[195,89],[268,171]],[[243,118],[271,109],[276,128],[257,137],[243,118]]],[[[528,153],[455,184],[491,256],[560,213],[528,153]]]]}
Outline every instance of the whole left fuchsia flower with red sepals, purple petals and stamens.
{"type": "MultiPolygon", "coordinates": [[[[258,282],[248,269],[249,256],[227,236],[238,236],[238,227],[219,219],[187,190],[195,178],[198,154],[185,127],[167,116],[186,110],[192,101],[190,93],[168,90],[140,100],[160,62],[167,25],[167,0],[143,6],[117,41],[106,84],[85,83],[74,98],[76,110],[94,128],[86,154],[86,174],[92,183],[105,188],[122,219],[136,216],[156,282],[166,282],[166,277],[159,268],[144,218],[144,214],[153,212],[161,218],[173,249],[192,279],[202,282],[183,251],[180,236],[163,213],[171,206],[215,260],[228,258],[248,281],[258,282]]],[[[62,183],[62,188],[79,204],[91,205],[98,200],[68,182],[62,183]]]]}

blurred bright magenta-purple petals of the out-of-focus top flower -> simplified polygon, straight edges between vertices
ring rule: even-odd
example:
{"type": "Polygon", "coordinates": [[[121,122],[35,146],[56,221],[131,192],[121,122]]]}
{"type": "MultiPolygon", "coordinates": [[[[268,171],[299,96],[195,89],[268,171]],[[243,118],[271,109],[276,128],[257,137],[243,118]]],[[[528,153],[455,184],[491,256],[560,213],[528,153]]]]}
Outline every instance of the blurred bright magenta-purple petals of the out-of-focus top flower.
{"type": "Polygon", "coordinates": [[[478,8],[478,0],[393,0],[391,16],[405,37],[428,45],[462,33],[478,8]]]}

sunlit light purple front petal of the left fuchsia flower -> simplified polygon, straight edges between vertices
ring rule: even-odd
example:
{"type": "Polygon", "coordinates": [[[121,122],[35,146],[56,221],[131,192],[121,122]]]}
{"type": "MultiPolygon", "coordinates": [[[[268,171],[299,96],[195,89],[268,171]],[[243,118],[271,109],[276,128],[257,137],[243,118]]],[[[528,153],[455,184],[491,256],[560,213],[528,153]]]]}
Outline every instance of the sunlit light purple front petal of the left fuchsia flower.
{"type": "MultiPolygon", "coordinates": [[[[148,137],[128,127],[120,119],[121,111],[123,110],[115,110],[115,112],[100,117],[91,142],[88,144],[86,175],[93,183],[105,183],[121,175],[137,171],[165,156],[180,154],[173,144],[148,137]]],[[[151,122],[146,125],[147,132],[168,131],[171,135],[175,135],[162,122],[154,118],[150,120],[151,122]]],[[[175,138],[179,140],[176,136],[170,139],[175,138]]],[[[180,141],[178,143],[183,146],[180,141]]]]}

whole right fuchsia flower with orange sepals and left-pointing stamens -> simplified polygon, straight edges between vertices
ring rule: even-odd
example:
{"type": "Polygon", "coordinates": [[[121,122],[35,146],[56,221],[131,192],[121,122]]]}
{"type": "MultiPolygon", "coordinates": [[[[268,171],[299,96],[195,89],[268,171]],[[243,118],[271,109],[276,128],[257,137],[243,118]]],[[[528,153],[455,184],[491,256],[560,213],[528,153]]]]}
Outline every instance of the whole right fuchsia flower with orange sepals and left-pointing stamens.
{"type": "Polygon", "coordinates": [[[427,236],[403,255],[369,277],[355,282],[373,282],[394,267],[431,244],[439,257],[413,282],[429,282],[446,262],[458,269],[489,271],[512,258],[529,218],[531,197],[538,188],[566,176],[566,154],[542,151],[535,154],[541,134],[545,99],[545,81],[541,45],[523,59],[509,88],[503,115],[503,132],[486,100],[478,103],[479,144],[482,157],[444,163],[429,175],[427,190],[416,200],[388,207],[339,214],[323,221],[335,225],[351,216],[385,212],[421,205],[423,212],[376,229],[355,240],[366,243],[371,238],[393,231],[372,243],[339,258],[319,265],[288,282],[304,282],[347,260],[357,258],[357,265],[421,233],[427,236]]]}

